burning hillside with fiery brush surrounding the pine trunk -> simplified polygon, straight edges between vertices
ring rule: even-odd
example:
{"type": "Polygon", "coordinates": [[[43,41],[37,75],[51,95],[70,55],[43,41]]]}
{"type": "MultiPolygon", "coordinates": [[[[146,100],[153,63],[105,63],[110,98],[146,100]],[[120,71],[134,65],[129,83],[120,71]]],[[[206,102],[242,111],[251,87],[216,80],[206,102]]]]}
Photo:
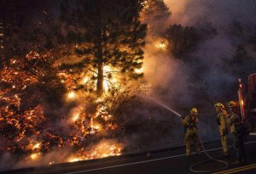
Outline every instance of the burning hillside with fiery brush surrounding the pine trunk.
{"type": "MultiPolygon", "coordinates": [[[[145,9],[142,4],[134,1],[130,5],[145,9]]],[[[43,14],[48,13],[43,11],[43,14]]],[[[143,15],[138,8],[134,14],[137,25],[142,25],[143,15]]],[[[137,30],[146,29],[143,25],[140,27],[137,30]]],[[[3,44],[7,45],[2,46],[3,49],[12,39],[4,30],[7,28],[1,27],[3,44]]],[[[110,34],[106,32],[107,37],[110,34]]],[[[144,36],[145,33],[137,37],[137,46],[129,46],[128,41],[121,45],[119,53],[124,55],[119,54],[120,60],[109,58],[105,61],[107,58],[102,57],[98,58],[102,59],[99,64],[99,60],[89,53],[87,60],[92,63],[83,68],[77,68],[82,59],[75,52],[94,48],[95,42],[61,44],[55,50],[44,48],[40,52],[34,49],[38,43],[30,43],[32,49],[24,56],[3,56],[0,71],[1,152],[19,154],[19,159],[26,161],[28,166],[61,149],[66,152],[61,160],[48,159],[44,165],[120,155],[125,149],[121,141],[124,133],[116,113],[120,104],[134,102],[132,98],[139,91],[135,79],[143,76],[143,51],[139,47],[144,44],[144,36]],[[63,47],[68,48],[64,53],[61,51],[63,47]],[[121,65],[126,64],[125,59],[127,65],[121,65]]],[[[124,42],[121,39],[117,42],[124,42]]],[[[134,38],[131,39],[134,42],[134,38]]],[[[106,44],[104,47],[109,50],[117,47],[112,41],[106,44]]],[[[116,56],[106,54],[111,55],[116,56]]]]}

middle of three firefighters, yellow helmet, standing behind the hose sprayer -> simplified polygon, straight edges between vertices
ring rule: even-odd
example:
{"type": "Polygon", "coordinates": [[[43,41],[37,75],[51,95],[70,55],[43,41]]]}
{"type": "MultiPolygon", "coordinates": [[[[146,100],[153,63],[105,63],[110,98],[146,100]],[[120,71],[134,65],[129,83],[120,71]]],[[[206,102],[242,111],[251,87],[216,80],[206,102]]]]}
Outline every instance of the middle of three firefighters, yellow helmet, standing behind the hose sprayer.
{"type": "Polygon", "coordinates": [[[227,122],[228,113],[224,109],[224,104],[214,104],[214,107],[217,112],[216,121],[218,123],[219,133],[220,133],[220,141],[223,149],[224,157],[229,155],[229,146],[228,146],[228,133],[229,133],[229,125],[227,122]]]}

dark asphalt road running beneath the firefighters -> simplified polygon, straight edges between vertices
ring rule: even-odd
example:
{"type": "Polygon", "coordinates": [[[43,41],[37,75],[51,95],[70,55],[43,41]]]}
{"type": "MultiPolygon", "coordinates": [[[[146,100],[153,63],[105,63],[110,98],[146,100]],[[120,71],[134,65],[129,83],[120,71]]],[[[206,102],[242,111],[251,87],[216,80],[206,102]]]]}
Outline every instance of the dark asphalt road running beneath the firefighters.
{"type": "MultiPolygon", "coordinates": [[[[205,143],[208,154],[218,157],[221,154],[219,142],[205,143]]],[[[195,170],[216,171],[220,173],[256,173],[256,136],[247,138],[247,163],[243,166],[233,166],[232,156],[226,159],[229,166],[222,171],[216,171],[224,167],[223,163],[208,161],[205,164],[196,166],[195,170]]],[[[219,158],[218,158],[219,159],[219,158]]],[[[204,153],[192,154],[186,157],[184,148],[160,149],[153,152],[141,154],[127,154],[118,157],[109,157],[101,160],[80,161],[75,163],[44,166],[41,168],[26,168],[15,171],[4,171],[9,174],[161,174],[161,173],[194,173],[189,171],[190,166],[200,161],[207,160],[204,153]]],[[[208,172],[212,173],[212,172],[208,172]]]]}

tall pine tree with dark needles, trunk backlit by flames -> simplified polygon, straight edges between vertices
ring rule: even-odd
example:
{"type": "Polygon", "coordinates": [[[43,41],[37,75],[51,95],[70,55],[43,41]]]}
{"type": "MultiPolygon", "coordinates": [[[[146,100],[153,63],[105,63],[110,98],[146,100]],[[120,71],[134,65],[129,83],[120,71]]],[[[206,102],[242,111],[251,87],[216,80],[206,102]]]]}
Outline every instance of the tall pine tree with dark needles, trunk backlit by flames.
{"type": "Polygon", "coordinates": [[[62,3],[61,19],[67,24],[67,41],[76,43],[82,67],[96,71],[96,93],[103,93],[104,66],[137,77],[143,65],[146,25],[140,20],[141,0],[76,0],[62,3]]]}

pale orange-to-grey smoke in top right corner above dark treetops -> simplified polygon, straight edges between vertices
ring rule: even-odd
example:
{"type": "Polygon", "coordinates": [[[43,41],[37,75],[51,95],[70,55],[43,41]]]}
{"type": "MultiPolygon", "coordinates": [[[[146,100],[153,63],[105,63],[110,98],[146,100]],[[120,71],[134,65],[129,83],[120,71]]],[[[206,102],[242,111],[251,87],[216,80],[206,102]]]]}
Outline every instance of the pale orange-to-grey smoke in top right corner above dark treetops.
{"type": "Polygon", "coordinates": [[[165,0],[172,11],[172,23],[195,25],[206,20],[214,26],[226,27],[230,21],[255,24],[254,0],[165,0]]]}

